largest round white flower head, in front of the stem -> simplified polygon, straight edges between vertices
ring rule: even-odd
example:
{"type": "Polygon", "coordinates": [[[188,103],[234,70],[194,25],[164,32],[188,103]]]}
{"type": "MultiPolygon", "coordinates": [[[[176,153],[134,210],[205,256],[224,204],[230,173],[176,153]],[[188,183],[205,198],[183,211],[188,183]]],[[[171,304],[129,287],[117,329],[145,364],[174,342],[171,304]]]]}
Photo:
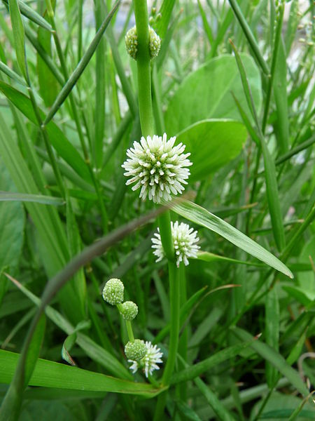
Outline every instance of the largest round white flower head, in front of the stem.
{"type": "Polygon", "coordinates": [[[183,192],[183,185],[188,184],[186,180],[190,175],[188,166],[192,165],[188,156],[183,154],[185,145],[179,143],[174,146],[176,137],[167,140],[167,135],[163,137],[154,135],[142,137],[139,142],[134,142],[133,147],[127,150],[129,159],[122,165],[126,172],[126,185],[136,183],[132,190],[141,187],[140,198],[153,200],[160,203],[163,200],[172,199],[171,194],[183,192]]]}

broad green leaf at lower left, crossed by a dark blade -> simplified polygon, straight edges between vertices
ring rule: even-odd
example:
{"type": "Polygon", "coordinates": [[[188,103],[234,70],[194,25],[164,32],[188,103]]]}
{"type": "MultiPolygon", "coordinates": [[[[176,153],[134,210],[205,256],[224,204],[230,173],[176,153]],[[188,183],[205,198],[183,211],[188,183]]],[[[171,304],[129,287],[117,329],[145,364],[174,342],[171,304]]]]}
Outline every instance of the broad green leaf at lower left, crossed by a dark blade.
{"type": "MultiPolygon", "coordinates": [[[[0,350],[1,382],[10,383],[18,363],[19,354],[0,350]]],[[[94,373],[82,368],[38,359],[30,386],[57,387],[71,390],[90,390],[94,392],[125,393],[153,398],[164,389],[156,389],[147,383],[130,382],[116,377],[94,373]]]]}

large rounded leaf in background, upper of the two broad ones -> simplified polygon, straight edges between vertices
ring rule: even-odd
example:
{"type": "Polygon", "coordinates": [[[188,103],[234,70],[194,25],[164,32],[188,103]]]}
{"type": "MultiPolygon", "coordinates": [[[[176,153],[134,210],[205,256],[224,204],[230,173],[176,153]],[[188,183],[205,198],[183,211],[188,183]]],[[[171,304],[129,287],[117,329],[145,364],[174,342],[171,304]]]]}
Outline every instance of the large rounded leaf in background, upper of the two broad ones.
{"type": "MultiPolygon", "coordinates": [[[[262,99],[260,74],[253,59],[241,55],[253,92],[256,109],[262,99]]],[[[231,91],[244,109],[248,109],[237,64],[232,55],[221,55],[190,73],[176,91],[165,114],[167,133],[176,134],[204,119],[234,119],[239,113],[231,91]]]]}

